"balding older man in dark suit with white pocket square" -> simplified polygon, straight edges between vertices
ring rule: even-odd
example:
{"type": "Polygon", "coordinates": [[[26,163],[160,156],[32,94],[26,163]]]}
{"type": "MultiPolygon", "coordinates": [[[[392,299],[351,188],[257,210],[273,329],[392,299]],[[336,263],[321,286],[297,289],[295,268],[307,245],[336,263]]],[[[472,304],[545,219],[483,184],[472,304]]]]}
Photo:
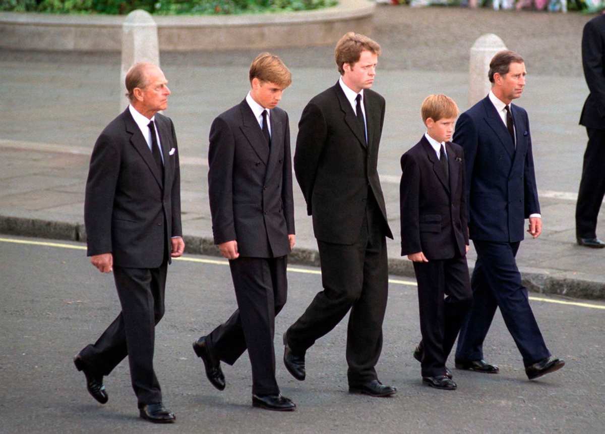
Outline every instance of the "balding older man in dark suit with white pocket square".
{"type": "Polygon", "coordinates": [[[174,422],[162,404],[153,369],[154,328],[164,314],[166,271],[183,254],[180,169],[168,107],[168,81],[155,65],[126,74],[130,105],[94,145],[86,184],[84,220],[88,256],[112,272],[122,312],[94,345],[74,358],[88,392],[102,404],[103,376],[128,355],[132,387],[143,419],[174,422]]]}

